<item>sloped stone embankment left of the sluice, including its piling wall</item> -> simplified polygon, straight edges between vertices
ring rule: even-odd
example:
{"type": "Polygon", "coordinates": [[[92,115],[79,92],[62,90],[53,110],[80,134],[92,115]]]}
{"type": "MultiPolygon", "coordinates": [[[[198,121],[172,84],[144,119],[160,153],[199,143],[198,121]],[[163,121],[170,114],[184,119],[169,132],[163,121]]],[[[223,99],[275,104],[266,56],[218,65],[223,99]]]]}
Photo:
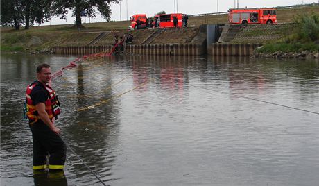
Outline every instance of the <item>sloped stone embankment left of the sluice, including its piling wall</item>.
{"type": "MultiPolygon", "coordinates": [[[[200,56],[206,52],[206,31],[193,28],[155,28],[139,31],[112,31],[89,33],[91,40],[78,41],[81,33],[70,35],[60,46],[53,47],[56,54],[85,55],[111,51],[114,36],[130,33],[132,44],[124,51],[137,55],[200,56]]],[[[83,34],[83,33],[82,33],[83,34]]],[[[88,33],[87,33],[88,34],[88,33]]]]}

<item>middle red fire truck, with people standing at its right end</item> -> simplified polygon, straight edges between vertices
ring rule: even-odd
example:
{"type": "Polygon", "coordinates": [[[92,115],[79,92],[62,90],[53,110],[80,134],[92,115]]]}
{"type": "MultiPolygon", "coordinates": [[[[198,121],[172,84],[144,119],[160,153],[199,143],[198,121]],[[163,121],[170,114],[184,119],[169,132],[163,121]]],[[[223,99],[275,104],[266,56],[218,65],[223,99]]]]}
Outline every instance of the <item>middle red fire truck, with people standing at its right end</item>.
{"type": "Polygon", "coordinates": [[[155,27],[160,28],[169,28],[174,27],[174,17],[178,18],[178,27],[182,27],[182,18],[183,14],[161,14],[155,15],[154,17],[154,24],[155,27]]]}

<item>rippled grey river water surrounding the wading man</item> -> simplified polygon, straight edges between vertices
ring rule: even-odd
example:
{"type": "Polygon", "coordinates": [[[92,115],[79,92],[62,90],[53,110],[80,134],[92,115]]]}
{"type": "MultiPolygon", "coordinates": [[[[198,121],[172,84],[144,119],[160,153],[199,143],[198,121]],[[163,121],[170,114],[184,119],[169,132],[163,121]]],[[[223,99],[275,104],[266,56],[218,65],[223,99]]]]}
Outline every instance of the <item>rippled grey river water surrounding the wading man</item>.
{"type": "Polygon", "coordinates": [[[33,175],[26,86],[75,58],[1,55],[1,185],[102,185],[78,157],[105,185],[318,185],[319,62],[206,56],[64,71],[56,124],[78,156],[65,179],[33,175]]]}

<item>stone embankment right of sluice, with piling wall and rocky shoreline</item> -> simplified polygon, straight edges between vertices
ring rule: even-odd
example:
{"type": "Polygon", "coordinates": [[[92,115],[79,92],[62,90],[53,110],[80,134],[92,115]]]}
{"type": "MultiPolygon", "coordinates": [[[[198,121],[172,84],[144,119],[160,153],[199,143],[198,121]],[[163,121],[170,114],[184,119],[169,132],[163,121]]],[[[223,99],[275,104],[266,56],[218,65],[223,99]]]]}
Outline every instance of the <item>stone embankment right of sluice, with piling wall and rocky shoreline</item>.
{"type": "Polygon", "coordinates": [[[319,58],[318,51],[258,53],[264,44],[289,41],[297,24],[225,25],[217,44],[213,44],[213,56],[251,56],[252,58],[319,58]]]}

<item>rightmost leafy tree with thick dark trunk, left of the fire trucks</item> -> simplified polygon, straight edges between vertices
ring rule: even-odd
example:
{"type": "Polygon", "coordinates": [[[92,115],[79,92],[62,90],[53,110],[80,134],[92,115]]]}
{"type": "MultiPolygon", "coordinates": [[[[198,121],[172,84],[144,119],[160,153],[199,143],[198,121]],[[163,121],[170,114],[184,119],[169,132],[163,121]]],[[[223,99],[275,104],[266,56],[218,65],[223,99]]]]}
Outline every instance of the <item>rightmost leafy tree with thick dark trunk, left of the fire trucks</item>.
{"type": "Polygon", "coordinates": [[[76,17],[76,26],[82,26],[81,16],[93,18],[97,12],[107,20],[110,20],[112,10],[110,3],[119,3],[118,0],[54,0],[53,15],[66,19],[68,10],[72,10],[72,16],[76,17]]]}

